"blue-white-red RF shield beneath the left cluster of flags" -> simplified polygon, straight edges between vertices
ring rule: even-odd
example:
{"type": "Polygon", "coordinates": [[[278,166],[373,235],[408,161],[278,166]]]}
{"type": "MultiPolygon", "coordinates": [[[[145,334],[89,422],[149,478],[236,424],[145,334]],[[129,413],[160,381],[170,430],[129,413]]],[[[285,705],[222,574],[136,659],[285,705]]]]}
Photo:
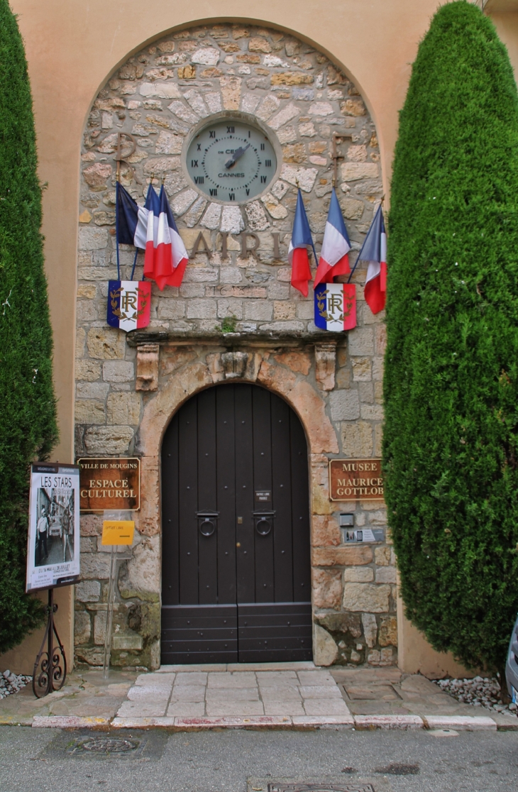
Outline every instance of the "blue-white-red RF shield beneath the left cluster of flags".
{"type": "Polygon", "coordinates": [[[112,327],[130,330],[147,327],[150,322],[151,284],[148,280],[109,280],[108,316],[112,327]]]}

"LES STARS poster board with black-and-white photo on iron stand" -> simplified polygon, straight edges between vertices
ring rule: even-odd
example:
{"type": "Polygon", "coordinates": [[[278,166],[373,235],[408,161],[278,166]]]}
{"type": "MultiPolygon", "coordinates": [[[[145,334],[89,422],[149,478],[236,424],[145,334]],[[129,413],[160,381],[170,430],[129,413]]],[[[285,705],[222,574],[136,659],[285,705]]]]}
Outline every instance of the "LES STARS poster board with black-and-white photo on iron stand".
{"type": "Polygon", "coordinates": [[[78,576],[78,498],[78,467],[32,465],[27,591],[72,583],[78,576]]]}

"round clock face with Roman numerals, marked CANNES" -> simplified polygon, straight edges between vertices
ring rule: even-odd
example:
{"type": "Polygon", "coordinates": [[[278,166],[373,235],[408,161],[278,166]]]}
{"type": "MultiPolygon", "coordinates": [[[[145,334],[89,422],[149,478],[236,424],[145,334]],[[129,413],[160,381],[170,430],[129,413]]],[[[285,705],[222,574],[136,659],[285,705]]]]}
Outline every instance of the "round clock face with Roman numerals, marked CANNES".
{"type": "Polygon", "coordinates": [[[186,164],[198,189],[229,204],[264,192],[276,173],[277,159],[260,128],[242,119],[218,118],[194,136],[186,164]]]}

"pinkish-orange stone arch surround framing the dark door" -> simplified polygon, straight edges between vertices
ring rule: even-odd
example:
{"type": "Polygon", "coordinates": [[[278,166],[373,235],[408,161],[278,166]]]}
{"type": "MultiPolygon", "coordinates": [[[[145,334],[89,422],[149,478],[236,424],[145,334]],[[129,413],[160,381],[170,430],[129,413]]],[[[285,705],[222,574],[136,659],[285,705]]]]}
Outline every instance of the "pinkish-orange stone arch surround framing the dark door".
{"type": "MultiPolygon", "coordinates": [[[[261,383],[279,394],[299,416],[307,436],[310,474],[310,535],[311,544],[322,544],[322,532],[334,533],[334,543],[340,534],[333,521],[322,511],[329,512],[327,499],[326,454],[337,454],[336,432],[326,414],[323,386],[334,384],[334,348],[329,345],[301,345],[283,348],[265,345],[262,348],[227,351],[214,345],[165,345],[160,350],[158,390],[147,398],[139,427],[136,451],[141,455],[142,509],[136,516],[139,534],[145,537],[145,553],[128,565],[129,580],[142,579],[143,568],[148,582],[153,584],[153,596],[160,595],[162,565],[160,500],[160,454],[162,437],[169,421],[192,395],[224,380],[261,383]],[[331,357],[332,365],[329,365],[331,357]],[[238,368],[238,376],[236,376],[238,368]],[[329,371],[332,369],[333,374],[329,371]]],[[[158,367],[158,356],[156,360],[158,367]]],[[[318,559],[317,559],[318,561],[318,559]]],[[[336,577],[336,575],[335,575],[336,577]]],[[[313,569],[313,600],[316,607],[327,604],[336,582],[326,570],[313,569]]],[[[339,596],[339,595],[338,595],[339,596]]]]}

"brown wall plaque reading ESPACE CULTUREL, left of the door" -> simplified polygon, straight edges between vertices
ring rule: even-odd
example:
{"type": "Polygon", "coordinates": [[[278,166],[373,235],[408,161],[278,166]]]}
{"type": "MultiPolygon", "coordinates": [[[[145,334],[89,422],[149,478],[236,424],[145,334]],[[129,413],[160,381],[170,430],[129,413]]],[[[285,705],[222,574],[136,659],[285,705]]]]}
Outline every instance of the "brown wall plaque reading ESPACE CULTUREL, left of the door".
{"type": "Polygon", "coordinates": [[[78,459],[82,512],[140,508],[140,459],[78,459]]]}

